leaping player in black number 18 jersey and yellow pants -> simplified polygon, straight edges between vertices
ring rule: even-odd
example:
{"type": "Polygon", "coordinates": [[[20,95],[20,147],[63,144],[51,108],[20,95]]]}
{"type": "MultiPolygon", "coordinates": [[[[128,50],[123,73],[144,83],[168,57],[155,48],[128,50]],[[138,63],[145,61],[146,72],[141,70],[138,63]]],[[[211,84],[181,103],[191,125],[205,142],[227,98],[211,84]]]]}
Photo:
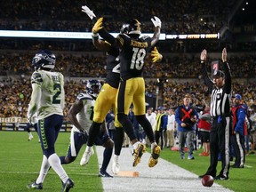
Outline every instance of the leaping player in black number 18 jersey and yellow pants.
{"type": "MultiPolygon", "coordinates": [[[[103,18],[97,20],[99,34],[109,44],[113,44],[120,49],[120,75],[121,81],[119,84],[116,104],[117,104],[117,119],[123,125],[124,131],[129,136],[133,150],[134,162],[133,166],[140,163],[140,157],[146,151],[146,146],[137,140],[133,131],[132,123],[128,119],[128,112],[131,104],[134,106],[134,115],[138,123],[143,127],[144,132],[151,142],[151,156],[148,162],[149,167],[154,167],[158,162],[158,157],[161,148],[157,146],[152,131],[151,124],[145,116],[145,82],[142,77],[142,71],[146,59],[146,55],[156,44],[160,36],[161,20],[157,17],[151,19],[156,27],[154,36],[141,36],[141,24],[139,20],[128,20],[123,25],[123,33],[120,33],[116,38],[111,36],[105,28],[103,28],[103,18]]],[[[157,58],[156,60],[161,60],[157,58]]],[[[89,135],[90,140],[90,135],[89,135]]]]}

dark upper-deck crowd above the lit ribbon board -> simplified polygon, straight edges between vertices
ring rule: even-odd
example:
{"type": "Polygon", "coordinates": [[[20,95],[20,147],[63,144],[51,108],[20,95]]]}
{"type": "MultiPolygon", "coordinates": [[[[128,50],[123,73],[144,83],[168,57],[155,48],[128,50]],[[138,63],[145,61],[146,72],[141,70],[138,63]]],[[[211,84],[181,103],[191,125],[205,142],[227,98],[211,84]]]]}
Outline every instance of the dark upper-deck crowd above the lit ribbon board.
{"type": "MultiPolygon", "coordinates": [[[[119,32],[124,20],[133,17],[143,23],[142,31],[150,32],[150,18],[156,15],[164,21],[162,31],[168,34],[217,33],[236,3],[237,0],[159,0],[148,4],[143,0],[86,1],[96,15],[108,19],[105,24],[109,31],[119,32]]],[[[81,12],[82,5],[77,1],[9,0],[0,7],[0,28],[88,32],[93,21],[81,12]]]]}

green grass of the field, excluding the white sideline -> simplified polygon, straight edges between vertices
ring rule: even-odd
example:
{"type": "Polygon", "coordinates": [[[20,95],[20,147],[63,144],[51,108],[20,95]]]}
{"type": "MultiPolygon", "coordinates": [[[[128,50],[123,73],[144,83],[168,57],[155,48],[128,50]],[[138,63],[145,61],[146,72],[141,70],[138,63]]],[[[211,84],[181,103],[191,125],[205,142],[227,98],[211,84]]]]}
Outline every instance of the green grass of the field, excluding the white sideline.
{"type": "MultiPolygon", "coordinates": [[[[42,150],[38,143],[36,132],[33,132],[34,139],[28,141],[27,132],[0,132],[0,191],[18,192],[29,191],[27,184],[31,180],[36,180],[40,171],[42,161],[42,150]]],[[[69,133],[60,132],[56,143],[56,152],[59,156],[66,155],[69,143],[69,133]]],[[[85,147],[84,147],[85,148],[85,147]]],[[[72,164],[63,165],[68,176],[75,181],[74,191],[96,191],[101,192],[102,184],[98,177],[99,166],[97,156],[92,156],[90,163],[81,167],[79,165],[84,148],[72,164]]],[[[148,148],[149,151],[149,148],[148,148]]],[[[161,157],[172,164],[194,172],[197,175],[206,172],[210,157],[199,156],[201,150],[195,152],[196,160],[180,160],[180,153],[164,148],[161,157]]],[[[188,154],[186,154],[188,156],[188,154]]],[[[220,162],[218,172],[220,172],[220,162]]],[[[233,164],[233,163],[232,163],[233,164]]],[[[157,166],[157,165],[156,165],[157,166]]],[[[256,156],[246,156],[246,167],[244,169],[230,168],[230,180],[215,181],[225,188],[230,188],[237,192],[256,191],[256,156]],[[248,167],[250,166],[250,167],[248,167]]],[[[172,180],[172,178],[170,179],[172,180]]],[[[121,185],[121,184],[120,184],[121,185]]],[[[60,191],[61,182],[58,175],[50,170],[44,180],[44,191],[60,191]]],[[[72,190],[73,191],[73,190],[72,190]]]]}

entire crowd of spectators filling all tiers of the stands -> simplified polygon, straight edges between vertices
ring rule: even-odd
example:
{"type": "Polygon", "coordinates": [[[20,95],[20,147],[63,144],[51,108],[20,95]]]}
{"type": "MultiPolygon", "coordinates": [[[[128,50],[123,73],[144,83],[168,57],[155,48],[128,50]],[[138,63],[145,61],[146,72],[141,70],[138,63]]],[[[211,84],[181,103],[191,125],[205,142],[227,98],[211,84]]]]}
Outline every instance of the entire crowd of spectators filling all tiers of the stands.
{"type": "MultiPolygon", "coordinates": [[[[237,2],[238,0],[158,0],[145,4],[143,0],[88,0],[86,4],[97,16],[106,18],[105,27],[108,31],[119,32],[124,20],[134,17],[141,21],[142,32],[152,32],[154,26],[150,19],[156,15],[163,21],[162,32],[174,35],[219,32],[220,28],[226,25],[228,13],[237,2]]],[[[84,12],[81,12],[82,5],[84,4],[77,1],[9,0],[0,6],[0,28],[2,30],[91,32],[95,20],[90,20],[84,12]]],[[[157,48],[164,54],[164,59],[154,65],[147,63],[144,70],[145,78],[196,79],[195,83],[185,84],[164,81],[160,87],[164,106],[166,108],[177,106],[184,93],[192,95],[195,105],[200,105],[203,99],[209,100],[208,90],[201,81],[199,57],[195,52],[199,53],[205,47],[210,52],[220,52],[218,50],[220,42],[187,44],[178,41],[166,41],[166,43],[160,41],[158,44],[157,48]],[[188,51],[194,53],[184,54],[188,51]],[[173,52],[176,54],[171,55],[170,53],[173,52]],[[180,53],[177,54],[177,52],[180,53]]],[[[237,44],[240,52],[249,52],[228,56],[232,78],[255,78],[256,57],[252,52],[256,50],[255,43],[237,44]]],[[[91,40],[1,38],[0,76],[5,77],[0,80],[0,116],[26,117],[31,94],[28,76],[31,76],[34,70],[31,68],[31,58],[36,51],[45,48],[56,52],[56,70],[64,76],[104,78],[107,75],[105,53],[94,48],[91,40]],[[8,77],[13,75],[19,75],[20,79],[14,80],[8,77]]],[[[236,51],[235,46],[230,46],[229,49],[236,51]]],[[[210,57],[207,61],[209,69],[212,60],[218,59],[210,57]]],[[[85,81],[66,81],[66,115],[68,108],[76,100],[76,94],[84,90],[84,84],[85,81]]],[[[233,92],[243,94],[244,101],[248,105],[255,104],[255,85],[234,83],[233,92]]],[[[155,97],[159,84],[151,81],[146,86],[146,94],[155,97]]]]}

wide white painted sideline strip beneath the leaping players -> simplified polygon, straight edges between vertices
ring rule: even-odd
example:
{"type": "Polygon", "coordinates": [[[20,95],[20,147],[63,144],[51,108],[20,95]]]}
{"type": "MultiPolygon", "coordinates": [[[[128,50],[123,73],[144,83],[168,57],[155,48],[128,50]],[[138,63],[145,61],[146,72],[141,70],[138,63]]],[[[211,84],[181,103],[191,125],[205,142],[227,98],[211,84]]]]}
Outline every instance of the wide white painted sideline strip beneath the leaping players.
{"type": "MultiPolygon", "coordinates": [[[[102,163],[103,150],[103,147],[96,147],[99,164],[102,163]]],[[[211,188],[204,187],[201,180],[198,179],[198,176],[195,173],[188,172],[187,170],[184,170],[161,158],[154,168],[149,168],[148,159],[150,154],[148,152],[141,157],[140,164],[136,167],[132,167],[133,157],[131,155],[131,151],[132,148],[122,148],[120,156],[121,171],[139,172],[139,177],[132,178],[114,175],[114,178],[102,178],[102,184],[105,192],[231,191],[228,188],[223,188],[217,183],[213,183],[211,188]]],[[[184,160],[188,161],[188,159],[184,160]]],[[[107,172],[113,175],[111,172],[111,166],[112,161],[108,165],[107,172]]]]}

